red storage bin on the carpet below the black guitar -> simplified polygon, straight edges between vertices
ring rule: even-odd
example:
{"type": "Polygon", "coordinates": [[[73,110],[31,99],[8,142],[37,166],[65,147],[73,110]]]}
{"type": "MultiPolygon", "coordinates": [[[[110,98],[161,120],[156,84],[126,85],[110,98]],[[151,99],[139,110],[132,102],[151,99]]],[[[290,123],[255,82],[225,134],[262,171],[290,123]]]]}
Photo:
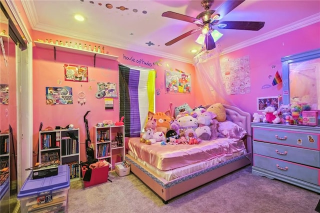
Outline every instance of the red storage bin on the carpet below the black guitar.
{"type": "MultiPolygon", "coordinates": [[[[109,164],[107,164],[106,166],[92,169],[90,181],[83,180],[84,187],[89,187],[91,185],[96,185],[96,184],[100,184],[102,182],[108,181],[108,173],[109,173],[108,165],[109,164]]],[[[83,167],[81,167],[81,171],[82,171],[82,177],[84,177],[86,170],[84,170],[83,167]]]]}

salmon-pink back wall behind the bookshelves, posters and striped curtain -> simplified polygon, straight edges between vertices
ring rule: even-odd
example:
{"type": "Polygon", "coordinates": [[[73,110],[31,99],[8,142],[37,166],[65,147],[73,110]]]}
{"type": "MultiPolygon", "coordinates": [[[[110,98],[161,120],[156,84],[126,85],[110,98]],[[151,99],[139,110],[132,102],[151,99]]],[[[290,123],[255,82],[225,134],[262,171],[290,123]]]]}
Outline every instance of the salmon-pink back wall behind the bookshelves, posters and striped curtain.
{"type": "MultiPolygon", "coordinates": [[[[46,38],[55,40],[71,41],[72,43],[84,43],[81,40],[74,40],[71,38],[61,37],[58,35],[50,35],[39,31],[33,31],[34,38],[45,40],[46,38]]],[[[100,45],[90,43],[91,46],[100,45]]],[[[168,58],[162,58],[138,52],[126,51],[112,47],[105,48],[111,55],[119,56],[118,61],[110,59],[96,58],[95,67],[93,66],[93,57],[81,54],[74,54],[64,51],[56,51],[56,60],[54,60],[53,50],[33,46],[33,150],[37,149],[38,144],[38,128],[40,122],[43,122],[43,128],[47,126],[66,126],[70,123],[75,127],[80,128],[80,155],[81,160],[85,161],[85,127],[83,122],[83,115],[87,110],[90,110],[87,115],[90,138],[93,141],[93,126],[97,122],[106,119],[117,121],[119,119],[119,99],[114,98],[113,109],[104,109],[104,99],[97,99],[95,92],[97,91],[96,83],[115,82],[118,86],[118,63],[141,66],[145,68],[154,68],[156,70],[156,85],[157,91],[155,97],[155,110],[165,111],[169,108],[169,103],[172,102],[173,106],[180,105],[188,102],[191,106],[194,103],[194,94],[196,90],[195,81],[191,79],[190,94],[177,95],[167,94],[164,88],[164,72],[165,70],[179,69],[194,77],[194,67],[192,64],[175,61],[168,58]],[[133,61],[134,59],[134,61],[133,61]],[[142,60],[144,64],[142,64],[142,60]],[[136,61],[141,61],[137,63],[136,61]],[[153,62],[160,61],[160,64],[154,65],[153,62]],[[88,82],[73,82],[64,80],[63,64],[76,64],[88,66],[88,82]],[[60,82],[60,84],[58,84],[60,82]],[[81,86],[82,85],[82,86],[81,86]],[[45,87],[46,86],[70,86],[73,93],[73,104],[66,105],[47,105],[45,102],[45,87]],[[91,90],[89,87],[91,86],[91,90]],[[77,94],[83,91],[86,95],[86,103],[80,105],[77,103],[77,94]]],[[[35,162],[36,156],[33,161],[35,162]]]]}

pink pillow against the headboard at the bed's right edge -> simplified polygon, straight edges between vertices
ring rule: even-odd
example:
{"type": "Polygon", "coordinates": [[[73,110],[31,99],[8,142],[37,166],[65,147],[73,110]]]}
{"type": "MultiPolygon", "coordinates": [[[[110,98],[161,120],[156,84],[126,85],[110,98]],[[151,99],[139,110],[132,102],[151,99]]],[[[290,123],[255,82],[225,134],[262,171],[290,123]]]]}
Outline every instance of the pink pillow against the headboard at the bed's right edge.
{"type": "Polygon", "coordinates": [[[241,139],[247,133],[244,128],[229,120],[219,122],[218,132],[227,138],[241,139]]]}

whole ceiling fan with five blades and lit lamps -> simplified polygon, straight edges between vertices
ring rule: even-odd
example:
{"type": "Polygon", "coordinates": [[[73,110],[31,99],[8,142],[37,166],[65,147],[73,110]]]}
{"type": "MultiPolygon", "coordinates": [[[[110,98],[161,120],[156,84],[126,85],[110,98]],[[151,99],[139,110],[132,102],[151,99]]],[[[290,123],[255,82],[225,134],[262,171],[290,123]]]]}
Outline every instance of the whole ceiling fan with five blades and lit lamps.
{"type": "MultiPolygon", "coordinates": [[[[165,43],[166,46],[169,46],[186,36],[189,36],[199,30],[201,30],[201,34],[197,38],[196,42],[205,43],[206,50],[210,50],[215,48],[215,40],[214,41],[214,31],[216,28],[220,29],[244,29],[244,30],[259,30],[264,26],[264,21],[219,21],[224,15],[229,13],[239,4],[241,4],[244,0],[227,0],[225,1],[219,8],[215,10],[210,10],[210,7],[213,4],[213,0],[202,0],[201,6],[205,9],[205,11],[199,13],[195,18],[187,15],[183,15],[180,13],[166,11],[162,13],[163,17],[174,18],[178,20],[183,20],[191,23],[195,23],[199,28],[191,29],[176,38],[165,43]]],[[[222,34],[221,34],[222,35],[222,34]]],[[[221,36],[220,35],[220,36],[221,36]]]]}

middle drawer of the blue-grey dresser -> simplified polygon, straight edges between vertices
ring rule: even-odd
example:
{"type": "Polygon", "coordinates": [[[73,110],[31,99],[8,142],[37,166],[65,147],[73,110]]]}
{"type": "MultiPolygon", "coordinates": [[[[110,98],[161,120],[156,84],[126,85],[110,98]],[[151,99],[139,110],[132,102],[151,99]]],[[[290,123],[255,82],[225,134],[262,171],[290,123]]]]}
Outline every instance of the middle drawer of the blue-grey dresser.
{"type": "Polygon", "coordinates": [[[253,153],[320,168],[320,151],[253,141],[253,153]]]}

